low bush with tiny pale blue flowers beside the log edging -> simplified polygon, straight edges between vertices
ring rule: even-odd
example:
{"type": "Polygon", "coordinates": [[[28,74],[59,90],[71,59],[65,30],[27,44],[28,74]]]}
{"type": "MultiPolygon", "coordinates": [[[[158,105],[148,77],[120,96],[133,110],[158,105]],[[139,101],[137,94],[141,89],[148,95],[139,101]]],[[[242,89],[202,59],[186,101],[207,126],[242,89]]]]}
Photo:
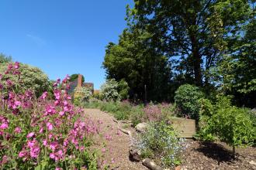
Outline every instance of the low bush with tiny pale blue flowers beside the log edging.
{"type": "Polygon", "coordinates": [[[150,123],[141,134],[138,148],[144,158],[154,158],[157,165],[173,168],[182,163],[184,142],[177,138],[174,128],[164,122],[150,123]]]}

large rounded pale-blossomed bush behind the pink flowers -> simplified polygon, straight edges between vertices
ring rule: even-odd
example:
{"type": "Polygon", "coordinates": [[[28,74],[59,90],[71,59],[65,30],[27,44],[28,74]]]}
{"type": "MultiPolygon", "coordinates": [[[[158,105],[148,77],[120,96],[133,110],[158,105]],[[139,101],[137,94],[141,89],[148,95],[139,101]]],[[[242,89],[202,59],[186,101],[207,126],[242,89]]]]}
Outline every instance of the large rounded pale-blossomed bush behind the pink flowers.
{"type": "Polygon", "coordinates": [[[10,74],[6,75],[6,68],[6,63],[0,64],[0,73],[2,74],[1,82],[8,79],[12,80],[13,83],[16,83],[16,89],[19,89],[20,93],[29,89],[35,91],[36,97],[40,97],[44,91],[52,91],[52,83],[50,83],[48,76],[37,67],[20,63],[19,71],[21,74],[19,78],[10,74]],[[22,80],[22,83],[19,82],[20,80],[22,80]]]}

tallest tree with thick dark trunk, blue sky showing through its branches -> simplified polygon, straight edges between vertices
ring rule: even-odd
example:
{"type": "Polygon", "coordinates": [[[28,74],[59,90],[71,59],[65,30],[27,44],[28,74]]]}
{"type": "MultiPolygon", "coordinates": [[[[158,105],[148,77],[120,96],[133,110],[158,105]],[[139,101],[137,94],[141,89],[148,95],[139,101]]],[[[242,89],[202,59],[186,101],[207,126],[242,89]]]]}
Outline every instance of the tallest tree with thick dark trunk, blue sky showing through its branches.
{"type": "Polygon", "coordinates": [[[239,38],[250,12],[244,0],[134,2],[128,12],[133,22],[152,35],[150,43],[172,60],[177,74],[201,87],[210,83],[211,68],[239,38]]]}

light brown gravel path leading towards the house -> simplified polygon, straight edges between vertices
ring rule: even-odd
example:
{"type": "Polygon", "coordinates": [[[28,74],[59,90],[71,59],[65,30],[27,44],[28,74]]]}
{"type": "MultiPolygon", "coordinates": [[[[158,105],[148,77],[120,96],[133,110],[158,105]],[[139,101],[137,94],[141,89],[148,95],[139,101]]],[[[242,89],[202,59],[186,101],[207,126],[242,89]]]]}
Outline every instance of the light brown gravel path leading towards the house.
{"type": "MultiPolygon", "coordinates": [[[[119,126],[125,126],[113,121],[110,114],[99,109],[85,109],[85,115],[99,125],[99,135],[95,135],[95,148],[102,151],[102,165],[110,165],[111,169],[143,170],[147,169],[141,162],[130,162],[129,159],[129,135],[119,131],[119,126]],[[106,151],[105,151],[106,150],[106,151]]],[[[127,126],[128,127],[128,126],[127,126]]],[[[129,129],[134,131],[133,129],[129,129]]]]}

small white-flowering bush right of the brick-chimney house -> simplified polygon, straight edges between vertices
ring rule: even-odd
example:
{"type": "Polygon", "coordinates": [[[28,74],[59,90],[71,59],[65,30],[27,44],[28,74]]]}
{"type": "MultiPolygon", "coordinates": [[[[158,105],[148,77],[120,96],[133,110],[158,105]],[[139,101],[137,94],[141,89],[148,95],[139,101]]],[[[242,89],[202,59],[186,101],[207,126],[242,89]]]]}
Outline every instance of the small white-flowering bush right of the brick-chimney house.
{"type": "Polygon", "coordinates": [[[119,84],[114,79],[106,80],[106,83],[102,84],[101,95],[102,99],[105,101],[116,101],[120,100],[120,95],[118,93],[119,84]]]}

